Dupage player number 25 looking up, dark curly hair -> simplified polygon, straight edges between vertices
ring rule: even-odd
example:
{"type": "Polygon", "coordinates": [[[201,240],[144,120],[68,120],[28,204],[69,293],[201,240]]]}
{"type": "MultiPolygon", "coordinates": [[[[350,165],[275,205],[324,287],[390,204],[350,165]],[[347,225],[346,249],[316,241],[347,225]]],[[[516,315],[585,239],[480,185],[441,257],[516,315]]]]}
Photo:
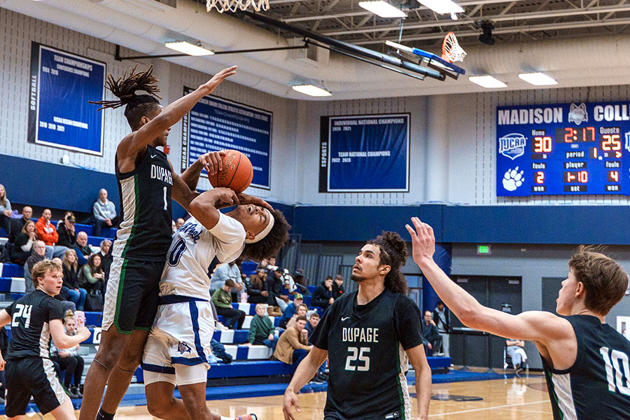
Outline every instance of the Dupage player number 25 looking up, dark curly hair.
{"type": "Polygon", "coordinates": [[[422,316],[405,295],[407,281],[400,272],[408,256],[396,232],[383,232],[361,248],[350,276],[358,290],[335,300],[311,335],[313,349],[284,393],[286,420],[295,419],[293,406],[300,411],[296,391],[327,356],[325,420],[412,419],[405,377],[409,362],[416,371],[417,419],[427,419],[431,371],[422,345],[422,316]]]}

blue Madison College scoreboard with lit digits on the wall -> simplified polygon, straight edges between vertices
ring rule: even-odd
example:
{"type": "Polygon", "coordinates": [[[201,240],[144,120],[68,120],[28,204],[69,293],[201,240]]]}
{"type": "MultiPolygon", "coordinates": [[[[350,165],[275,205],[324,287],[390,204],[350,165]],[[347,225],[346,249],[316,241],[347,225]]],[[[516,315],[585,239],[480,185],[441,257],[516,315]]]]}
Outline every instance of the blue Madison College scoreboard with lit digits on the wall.
{"type": "Polygon", "coordinates": [[[630,195],[630,102],[499,106],[496,195],[630,195]]]}

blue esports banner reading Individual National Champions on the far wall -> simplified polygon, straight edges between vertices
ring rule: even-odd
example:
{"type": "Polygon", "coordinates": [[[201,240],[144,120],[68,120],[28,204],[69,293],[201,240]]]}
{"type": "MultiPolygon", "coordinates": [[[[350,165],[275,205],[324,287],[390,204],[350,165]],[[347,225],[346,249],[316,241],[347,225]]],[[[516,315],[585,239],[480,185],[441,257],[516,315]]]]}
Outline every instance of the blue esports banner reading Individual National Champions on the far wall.
{"type": "Polygon", "coordinates": [[[320,193],[409,191],[409,114],[321,118],[320,193]]]}

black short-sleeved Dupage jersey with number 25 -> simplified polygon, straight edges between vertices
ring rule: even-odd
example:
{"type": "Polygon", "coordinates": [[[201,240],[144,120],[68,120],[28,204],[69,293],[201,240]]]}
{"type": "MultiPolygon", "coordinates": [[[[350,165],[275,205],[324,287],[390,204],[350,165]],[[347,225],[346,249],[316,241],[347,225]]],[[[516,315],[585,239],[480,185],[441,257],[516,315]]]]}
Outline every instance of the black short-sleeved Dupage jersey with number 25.
{"type": "Polygon", "coordinates": [[[328,350],[326,420],[411,419],[408,349],[422,344],[421,314],[402,293],[384,290],[365,305],[344,293],[310,337],[328,350]]]}

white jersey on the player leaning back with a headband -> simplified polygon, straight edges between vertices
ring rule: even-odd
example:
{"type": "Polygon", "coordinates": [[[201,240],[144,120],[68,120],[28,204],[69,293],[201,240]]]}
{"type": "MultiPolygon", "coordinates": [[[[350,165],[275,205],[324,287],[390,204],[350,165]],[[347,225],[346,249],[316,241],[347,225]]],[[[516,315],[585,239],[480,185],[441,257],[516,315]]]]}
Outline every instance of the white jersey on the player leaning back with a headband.
{"type": "Polygon", "coordinates": [[[245,246],[245,228],[221,214],[216,226],[204,228],[191,217],[173,234],[173,241],[160,281],[160,296],[179,295],[210,300],[208,267],[214,257],[236,260],[245,246]]]}

